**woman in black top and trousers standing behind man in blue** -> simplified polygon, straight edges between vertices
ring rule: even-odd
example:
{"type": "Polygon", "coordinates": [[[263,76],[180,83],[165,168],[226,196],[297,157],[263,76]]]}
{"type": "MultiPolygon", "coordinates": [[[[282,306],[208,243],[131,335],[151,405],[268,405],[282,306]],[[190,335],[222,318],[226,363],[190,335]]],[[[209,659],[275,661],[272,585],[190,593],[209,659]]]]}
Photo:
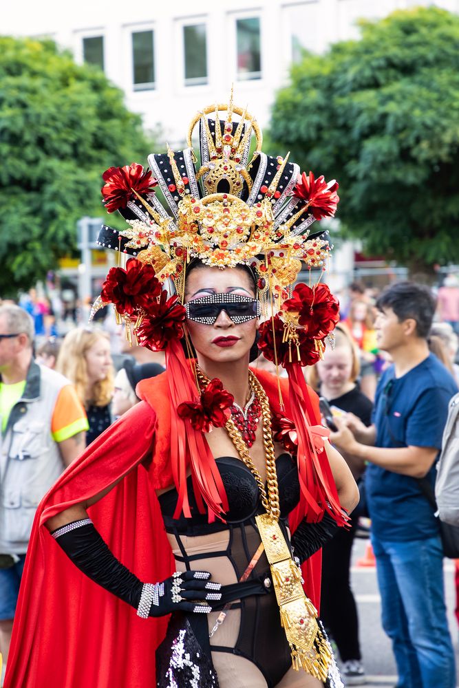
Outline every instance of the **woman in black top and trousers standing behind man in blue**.
{"type": "MultiPolygon", "coordinates": [[[[354,413],[365,425],[371,424],[372,402],[356,384],[359,376],[359,352],[345,325],[335,330],[334,350],[328,347],[322,361],[311,369],[310,383],[325,398],[336,414],[354,413]]],[[[365,466],[354,456],[344,456],[356,480],[365,466]]],[[[350,587],[350,560],[357,519],[350,530],[340,528],[333,539],[323,546],[321,618],[337,643],[342,674],[346,685],[362,685],[365,673],[361,664],[359,619],[350,587]]]]}

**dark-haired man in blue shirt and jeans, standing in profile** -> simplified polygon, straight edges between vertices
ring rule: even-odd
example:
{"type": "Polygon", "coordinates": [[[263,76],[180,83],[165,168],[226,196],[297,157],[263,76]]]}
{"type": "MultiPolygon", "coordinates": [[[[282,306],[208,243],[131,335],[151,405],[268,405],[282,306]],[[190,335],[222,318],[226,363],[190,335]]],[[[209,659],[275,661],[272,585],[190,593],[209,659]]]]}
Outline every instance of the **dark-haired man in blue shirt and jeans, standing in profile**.
{"type": "Polygon", "coordinates": [[[379,347],[392,357],[376,390],[374,424],[337,419],[334,444],[369,462],[366,495],[381,591],[383,627],[392,640],[397,688],[454,688],[438,522],[419,478],[435,480],[448,402],[457,387],[429,353],[435,312],[430,291],[389,286],[377,302],[379,347]]]}

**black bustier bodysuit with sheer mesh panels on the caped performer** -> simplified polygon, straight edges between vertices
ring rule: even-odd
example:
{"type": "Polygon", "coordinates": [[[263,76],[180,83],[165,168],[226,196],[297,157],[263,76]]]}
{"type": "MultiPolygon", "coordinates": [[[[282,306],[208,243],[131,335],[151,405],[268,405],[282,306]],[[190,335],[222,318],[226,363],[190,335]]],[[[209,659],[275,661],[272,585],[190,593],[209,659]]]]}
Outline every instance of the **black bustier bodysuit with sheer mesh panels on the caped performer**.
{"type": "MultiPolygon", "coordinates": [[[[209,524],[207,515],[198,512],[191,478],[188,493],[192,518],[173,519],[178,498],[175,488],[159,497],[162,517],[178,569],[209,570],[213,580],[223,584],[222,605],[215,609],[221,610],[224,603],[232,602],[224,623],[211,638],[210,647],[209,629],[219,612],[209,614],[208,619],[189,616],[201,646],[212,653],[217,674],[220,676],[228,665],[237,667],[235,657],[238,656],[255,665],[257,676],[261,678],[261,673],[264,678],[264,685],[274,687],[290,669],[291,658],[264,552],[247,583],[237,583],[261,542],[255,524],[255,515],[263,511],[259,490],[252,473],[239,459],[222,457],[217,459],[217,466],[228,497],[226,524],[220,521],[209,524]],[[246,596],[239,599],[241,585],[246,596]],[[202,621],[206,621],[204,632],[202,621]]],[[[290,454],[284,453],[277,458],[276,467],[281,508],[279,523],[289,539],[286,518],[299,501],[297,465],[290,454]]],[[[244,665],[247,667],[247,663],[242,663],[244,665]]],[[[234,688],[261,685],[255,678],[246,677],[245,682],[239,678],[242,682],[235,683],[231,678],[234,688]]]]}

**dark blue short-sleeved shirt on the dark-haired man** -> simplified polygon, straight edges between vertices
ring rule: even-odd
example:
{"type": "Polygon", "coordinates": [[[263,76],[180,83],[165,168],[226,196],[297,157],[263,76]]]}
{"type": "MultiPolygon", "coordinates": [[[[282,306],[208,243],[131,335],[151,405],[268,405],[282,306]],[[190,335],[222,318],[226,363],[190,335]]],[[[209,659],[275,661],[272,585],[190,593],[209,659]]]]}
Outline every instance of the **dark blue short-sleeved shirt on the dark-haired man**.
{"type": "MultiPolygon", "coordinates": [[[[436,447],[441,449],[448,402],[456,394],[453,376],[430,354],[396,378],[391,365],[376,389],[373,422],[376,447],[436,447]]],[[[418,481],[409,475],[368,464],[365,471],[372,532],[386,541],[420,540],[438,534],[438,523],[418,481]]],[[[435,482],[435,466],[427,477],[435,482]]]]}

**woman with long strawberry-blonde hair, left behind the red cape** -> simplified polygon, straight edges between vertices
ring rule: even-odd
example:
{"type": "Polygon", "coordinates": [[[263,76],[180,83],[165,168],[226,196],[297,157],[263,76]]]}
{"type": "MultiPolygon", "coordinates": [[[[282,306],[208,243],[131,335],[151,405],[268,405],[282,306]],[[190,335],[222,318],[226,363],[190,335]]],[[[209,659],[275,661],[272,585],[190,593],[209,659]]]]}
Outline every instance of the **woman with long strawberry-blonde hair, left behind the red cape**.
{"type": "Polygon", "coordinates": [[[83,403],[90,444],[111,423],[110,402],[114,392],[114,367],[109,336],[100,330],[78,327],[62,343],[56,369],[74,384],[83,403]]]}

